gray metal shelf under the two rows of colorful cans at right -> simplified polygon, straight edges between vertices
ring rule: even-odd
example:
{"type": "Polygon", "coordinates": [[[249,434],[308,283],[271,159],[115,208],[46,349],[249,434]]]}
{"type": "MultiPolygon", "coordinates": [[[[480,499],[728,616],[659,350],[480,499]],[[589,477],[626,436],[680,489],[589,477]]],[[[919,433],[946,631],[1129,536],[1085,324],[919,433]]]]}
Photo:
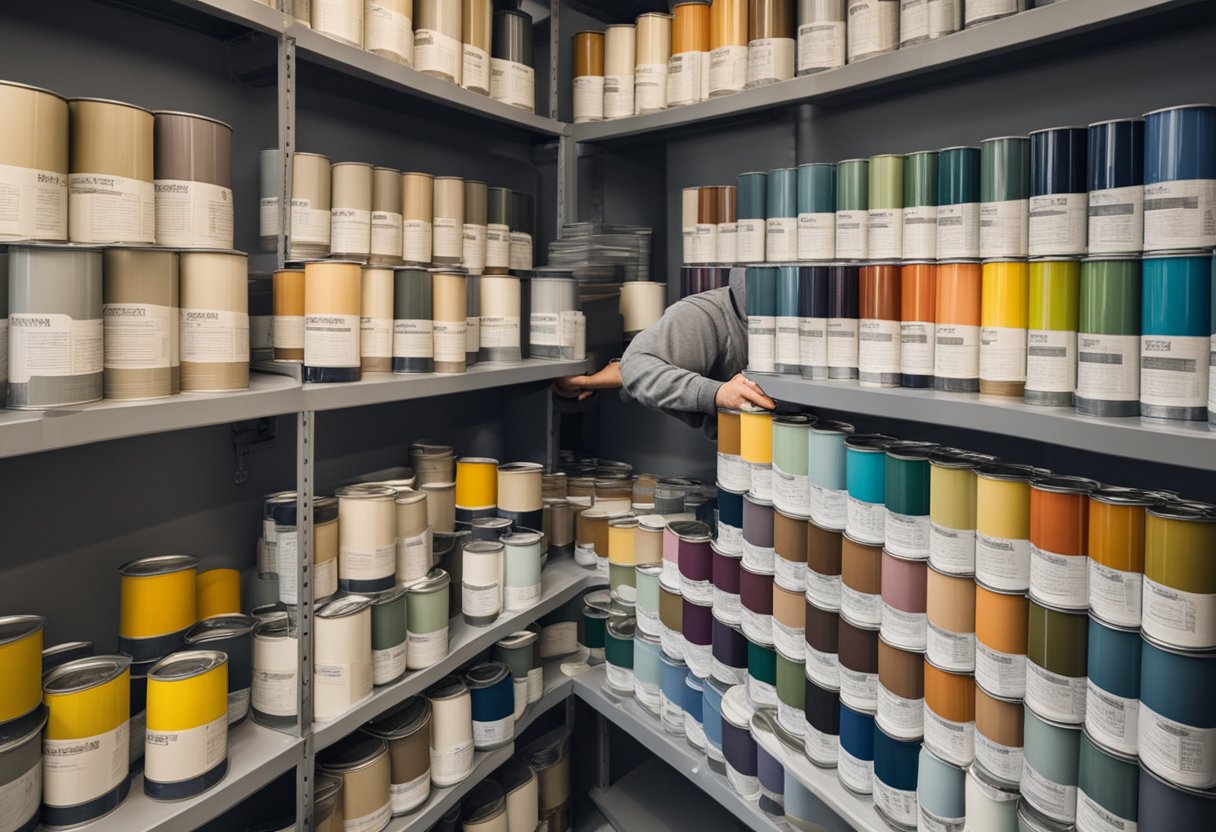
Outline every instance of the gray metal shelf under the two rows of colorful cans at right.
{"type": "Polygon", "coordinates": [[[1216,431],[1206,422],[1098,418],[1071,407],[1037,407],[976,393],[861,387],[856,381],[767,375],[755,380],[770,397],[806,406],[984,431],[1162,465],[1216,468],[1216,431]]]}

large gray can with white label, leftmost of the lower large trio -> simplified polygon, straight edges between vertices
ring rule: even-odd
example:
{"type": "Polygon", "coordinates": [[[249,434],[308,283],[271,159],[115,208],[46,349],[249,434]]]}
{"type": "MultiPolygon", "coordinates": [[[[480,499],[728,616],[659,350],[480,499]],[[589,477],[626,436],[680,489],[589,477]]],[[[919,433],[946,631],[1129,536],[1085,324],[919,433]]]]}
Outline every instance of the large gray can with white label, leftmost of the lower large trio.
{"type": "Polygon", "coordinates": [[[9,248],[9,406],[44,410],[102,394],[102,255],[9,248]]]}

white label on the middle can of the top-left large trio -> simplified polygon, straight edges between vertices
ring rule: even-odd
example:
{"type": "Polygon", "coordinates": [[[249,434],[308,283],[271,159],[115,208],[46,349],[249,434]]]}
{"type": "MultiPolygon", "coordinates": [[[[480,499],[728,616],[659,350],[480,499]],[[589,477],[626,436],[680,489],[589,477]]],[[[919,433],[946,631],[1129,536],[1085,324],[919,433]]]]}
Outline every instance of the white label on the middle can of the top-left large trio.
{"type": "Polygon", "coordinates": [[[72,242],[156,240],[156,187],[109,174],[68,174],[68,236],[72,242]]]}

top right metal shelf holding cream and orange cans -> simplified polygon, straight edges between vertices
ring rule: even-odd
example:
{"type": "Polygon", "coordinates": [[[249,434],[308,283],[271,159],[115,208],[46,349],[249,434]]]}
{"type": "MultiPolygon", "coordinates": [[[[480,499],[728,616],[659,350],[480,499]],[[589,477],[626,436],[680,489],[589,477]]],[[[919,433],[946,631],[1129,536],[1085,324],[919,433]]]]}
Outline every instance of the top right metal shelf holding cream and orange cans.
{"type": "Polygon", "coordinates": [[[984,63],[1008,63],[1019,54],[1025,57],[1036,50],[1058,50],[1059,41],[1076,40],[1099,30],[1103,36],[1110,36],[1116,29],[1131,33],[1147,17],[1201,4],[1203,0],[1068,0],[838,69],[647,116],[575,124],[573,136],[580,142],[662,139],[669,133],[703,129],[716,122],[793,105],[835,103],[879,88],[889,92],[901,84],[927,83],[931,75],[945,71],[957,73],[966,67],[970,72],[984,63]]]}

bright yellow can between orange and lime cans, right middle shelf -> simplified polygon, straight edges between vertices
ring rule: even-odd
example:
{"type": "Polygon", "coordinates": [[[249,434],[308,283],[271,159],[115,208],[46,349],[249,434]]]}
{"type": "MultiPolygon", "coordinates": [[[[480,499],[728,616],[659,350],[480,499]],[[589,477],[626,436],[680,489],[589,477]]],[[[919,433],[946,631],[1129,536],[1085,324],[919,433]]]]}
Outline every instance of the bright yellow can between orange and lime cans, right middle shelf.
{"type": "Polygon", "coordinates": [[[989,260],[980,289],[980,393],[1021,397],[1026,381],[1030,268],[989,260]]]}

